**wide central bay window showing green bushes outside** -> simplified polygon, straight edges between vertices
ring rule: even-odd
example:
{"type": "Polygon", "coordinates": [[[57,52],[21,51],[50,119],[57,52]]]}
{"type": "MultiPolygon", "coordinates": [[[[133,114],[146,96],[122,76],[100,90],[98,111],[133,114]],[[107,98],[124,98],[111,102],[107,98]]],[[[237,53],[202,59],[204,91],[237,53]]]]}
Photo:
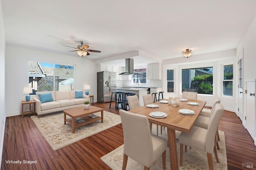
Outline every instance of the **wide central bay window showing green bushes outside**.
{"type": "Polygon", "coordinates": [[[213,67],[182,69],[182,92],[213,94],[213,67]]]}

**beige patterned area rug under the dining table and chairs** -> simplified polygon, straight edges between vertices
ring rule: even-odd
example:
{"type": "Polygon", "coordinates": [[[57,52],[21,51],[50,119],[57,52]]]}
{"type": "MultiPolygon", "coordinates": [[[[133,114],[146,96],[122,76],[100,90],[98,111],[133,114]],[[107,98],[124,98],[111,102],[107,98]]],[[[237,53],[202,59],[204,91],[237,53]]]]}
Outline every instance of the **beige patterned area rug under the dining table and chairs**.
{"type": "MultiPolygon", "coordinates": [[[[160,131],[160,128],[159,128],[160,131]]],[[[156,135],[156,126],[153,125],[152,133],[156,135]]],[[[213,162],[214,162],[214,170],[226,170],[227,169],[227,156],[226,156],[226,144],[225,144],[225,136],[224,131],[219,131],[220,133],[220,150],[218,151],[218,157],[220,159],[220,163],[216,162],[215,156],[213,154],[213,162]]],[[[159,133],[160,134],[160,133],[159,133]]],[[[176,131],[176,139],[180,135],[179,131],[176,131]]],[[[167,139],[167,130],[163,131],[163,134],[158,135],[160,137],[167,139]]],[[[208,161],[206,152],[202,152],[200,150],[191,149],[183,154],[183,166],[180,166],[180,143],[177,142],[177,152],[178,152],[178,165],[179,170],[208,170],[208,161]]],[[[118,147],[112,152],[102,156],[100,159],[103,160],[111,169],[120,170],[122,169],[123,164],[123,152],[124,145],[118,147]]],[[[185,151],[185,149],[184,149],[185,151]]],[[[126,170],[143,170],[144,166],[139,164],[135,160],[132,160],[128,157],[128,163],[126,170]]],[[[162,170],[162,156],[156,160],[151,166],[150,170],[162,170]]],[[[166,149],[166,169],[170,170],[170,152],[169,147],[166,149]]]]}

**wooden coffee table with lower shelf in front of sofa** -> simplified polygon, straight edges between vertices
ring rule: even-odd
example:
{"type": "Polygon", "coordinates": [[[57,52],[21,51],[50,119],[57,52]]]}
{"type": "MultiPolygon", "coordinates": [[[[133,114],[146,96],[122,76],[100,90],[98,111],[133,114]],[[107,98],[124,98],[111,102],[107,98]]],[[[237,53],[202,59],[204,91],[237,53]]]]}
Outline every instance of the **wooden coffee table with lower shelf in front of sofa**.
{"type": "Polygon", "coordinates": [[[76,127],[80,127],[82,125],[86,125],[88,123],[92,123],[94,121],[100,120],[103,123],[103,109],[100,107],[90,106],[89,109],[84,109],[84,107],[77,107],[74,109],[68,109],[64,110],[64,125],[66,125],[66,122],[68,122],[70,125],[72,125],[72,133],[75,133],[76,127]],[[101,117],[91,118],[89,115],[92,115],[93,113],[97,113],[101,111],[101,117]],[[66,115],[69,115],[72,118],[72,121],[66,119],[66,115]],[[76,118],[84,119],[85,122],[83,123],[77,123],[75,120],[76,118]]]}

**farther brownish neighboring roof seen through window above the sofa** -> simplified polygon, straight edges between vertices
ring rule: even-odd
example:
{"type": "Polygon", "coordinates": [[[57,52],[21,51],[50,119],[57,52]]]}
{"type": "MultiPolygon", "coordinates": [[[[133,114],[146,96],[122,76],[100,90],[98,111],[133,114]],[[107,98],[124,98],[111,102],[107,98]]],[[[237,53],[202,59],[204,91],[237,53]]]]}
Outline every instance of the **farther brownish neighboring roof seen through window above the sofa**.
{"type": "MultiPolygon", "coordinates": [[[[43,67],[46,76],[53,76],[53,68],[52,67],[43,67]]],[[[59,77],[59,79],[67,79],[74,77],[74,70],[68,68],[55,68],[55,75],[59,77]]]]}

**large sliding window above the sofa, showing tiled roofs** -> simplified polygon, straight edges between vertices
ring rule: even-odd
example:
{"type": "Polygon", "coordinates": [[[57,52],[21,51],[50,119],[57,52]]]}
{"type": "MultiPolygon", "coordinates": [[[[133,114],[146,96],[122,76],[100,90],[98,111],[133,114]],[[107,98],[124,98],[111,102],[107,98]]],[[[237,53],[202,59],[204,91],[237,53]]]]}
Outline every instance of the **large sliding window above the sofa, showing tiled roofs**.
{"type": "Polygon", "coordinates": [[[29,61],[29,86],[36,91],[74,90],[74,66],[29,61]]]}

